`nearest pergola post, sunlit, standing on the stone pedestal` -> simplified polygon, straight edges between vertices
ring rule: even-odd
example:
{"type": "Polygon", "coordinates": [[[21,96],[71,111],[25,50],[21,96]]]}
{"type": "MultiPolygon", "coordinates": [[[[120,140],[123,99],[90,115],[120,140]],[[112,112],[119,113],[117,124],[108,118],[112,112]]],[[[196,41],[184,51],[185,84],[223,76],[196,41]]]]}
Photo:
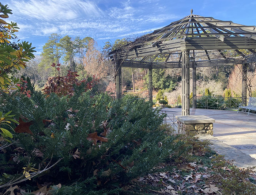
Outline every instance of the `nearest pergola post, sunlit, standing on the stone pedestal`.
{"type": "Polygon", "coordinates": [[[189,50],[182,50],[182,116],[189,115],[189,50]]]}

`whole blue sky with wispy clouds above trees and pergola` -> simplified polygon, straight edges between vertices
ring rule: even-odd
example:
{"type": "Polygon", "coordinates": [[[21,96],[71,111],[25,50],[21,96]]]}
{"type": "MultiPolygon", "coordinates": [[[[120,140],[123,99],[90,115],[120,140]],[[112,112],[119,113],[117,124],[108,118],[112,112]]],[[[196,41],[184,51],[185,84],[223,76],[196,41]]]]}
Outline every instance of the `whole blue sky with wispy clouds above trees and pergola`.
{"type": "Polygon", "coordinates": [[[99,47],[129,35],[141,35],[190,14],[256,25],[256,0],[4,0],[17,22],[16,33],[40,54],[52,33],[94,38],[99,47]]]}

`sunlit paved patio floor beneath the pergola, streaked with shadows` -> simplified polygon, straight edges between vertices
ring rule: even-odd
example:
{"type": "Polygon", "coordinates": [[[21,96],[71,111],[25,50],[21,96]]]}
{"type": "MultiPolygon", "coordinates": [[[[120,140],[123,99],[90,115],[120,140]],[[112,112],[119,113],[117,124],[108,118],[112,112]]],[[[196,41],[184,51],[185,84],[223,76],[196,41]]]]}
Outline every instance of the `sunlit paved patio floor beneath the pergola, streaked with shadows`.
{"type": "MultiPolygon", "coordinates": [[[[181,115],[181,108],[164,108],[170,117],[181,115]]],[[[244,112],[191,108],[191,115],[205,115],[215,119],[213,136],[224,144],[256,158],[256,115],[244,112]]],[[[215,139],[216,140],[216,139],[215,139]]],[[[256,166],[256,164],[255,164],[256,166]]]]}

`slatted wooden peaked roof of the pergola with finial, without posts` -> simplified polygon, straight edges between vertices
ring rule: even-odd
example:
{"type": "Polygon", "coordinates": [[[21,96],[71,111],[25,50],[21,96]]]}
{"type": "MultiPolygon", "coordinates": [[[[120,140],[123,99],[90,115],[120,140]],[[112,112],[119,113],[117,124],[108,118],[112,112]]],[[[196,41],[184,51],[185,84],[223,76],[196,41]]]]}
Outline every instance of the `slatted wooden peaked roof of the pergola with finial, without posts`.
{"type": "MultiPolygon", "coordinates": [[[[196,66],[242,64],[256,61],[256,27],[244,26],[232,21],[217,20],[191,14],[168,26],[144,35],[109,53],[113,60],[121,60],[122,66],[134,68],[180,68],[181,51],[191,50],[196,66]],[[251,56],[241,50],[247,49],[251,56]],[[200,51],[203,50],[203,51],[200,51]],[[237,58],[228,58],[223,50],[234,50],[237,58]],[[217,51],[221,58],[211,59],[217,51]],[[206,57],[204,60],[199,54],[206,57]],[[165,60],[155,59],[162,55],[165,60]]],[[[191,63],[192,66],[192,63],[191,63]]]]}

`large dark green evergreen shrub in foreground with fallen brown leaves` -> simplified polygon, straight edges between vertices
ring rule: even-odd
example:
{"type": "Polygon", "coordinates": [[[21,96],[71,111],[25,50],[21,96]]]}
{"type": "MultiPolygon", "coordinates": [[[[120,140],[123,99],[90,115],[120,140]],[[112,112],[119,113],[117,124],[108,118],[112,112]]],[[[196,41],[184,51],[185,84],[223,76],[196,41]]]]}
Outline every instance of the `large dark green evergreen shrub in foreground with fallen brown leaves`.
{"type": "Polygon", "coordinates": [[[30,97],[14,92],[0,98],[1,111],[12,110],[20,123],[11,124],[11,145],[0,139],[0,192],[19,178],[23,194],[44,186],[51,195],[120,194],[131,179],[158,172],[155,166],[181,146],[159,129],[164,115],[149,101],[92,96],[84,83],[73,96],[46,96],[27,85],[30,97]]]}

